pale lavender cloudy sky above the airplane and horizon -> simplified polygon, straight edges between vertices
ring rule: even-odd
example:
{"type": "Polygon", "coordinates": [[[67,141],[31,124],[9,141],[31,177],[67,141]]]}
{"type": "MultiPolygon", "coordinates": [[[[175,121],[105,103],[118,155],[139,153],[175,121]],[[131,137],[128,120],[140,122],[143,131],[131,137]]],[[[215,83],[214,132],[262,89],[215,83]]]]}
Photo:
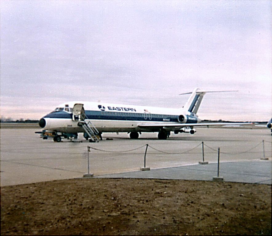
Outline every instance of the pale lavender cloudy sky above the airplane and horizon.
{"type": "Polygon", "coordinates": [[[180,108],[202,119],[271,118],[271,1],[1,4],[1,116],[39,119],[71,100],[180,108]]]}

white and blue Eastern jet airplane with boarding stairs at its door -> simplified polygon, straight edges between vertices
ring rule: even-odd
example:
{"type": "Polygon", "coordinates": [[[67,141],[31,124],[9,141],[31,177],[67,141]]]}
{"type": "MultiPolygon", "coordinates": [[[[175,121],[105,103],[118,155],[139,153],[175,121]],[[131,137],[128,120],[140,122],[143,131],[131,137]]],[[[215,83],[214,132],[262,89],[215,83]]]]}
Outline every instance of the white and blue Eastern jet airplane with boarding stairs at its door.
{"type": "Polygon", "coordinates": [[[86,101],[66,102],[43,116],[39,120],[39,126],[52,132],[56,142],[60,142],[62,137],[77,138],[79,132],[83,132],[86,140],[98,142],[98,136],[102,140],[103,132],[127,132],[131,139],[138,139],[142,132],[158,132],[158,139],[166,140],[171,131],[178,134],[190,128],[190,133],[194,134],[195,126],[249,124],[200,123],[201,119],[196,113],[203,96],[208,92],[237,91],[202,91],[196,88],[193,92],[182,93],[191,95],[180,109],[86,101]]]}

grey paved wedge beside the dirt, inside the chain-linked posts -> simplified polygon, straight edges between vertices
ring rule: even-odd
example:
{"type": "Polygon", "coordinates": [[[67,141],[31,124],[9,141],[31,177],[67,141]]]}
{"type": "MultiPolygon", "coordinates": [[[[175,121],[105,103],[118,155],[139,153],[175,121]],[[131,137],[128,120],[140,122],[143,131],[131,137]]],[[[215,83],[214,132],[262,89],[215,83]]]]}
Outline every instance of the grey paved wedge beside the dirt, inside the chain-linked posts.
{"type": "Polygon", "coordinates": [[[271,185],[271,161],[251,160],[241,162],[197,164],[172,168],[134,171],[94,178],[136,178],[136,179],[187,179],[202,181],[222,181],[238,183],[258,183],[271,185]],[[216,178],[214,178],[216,177],[216,178]]]}

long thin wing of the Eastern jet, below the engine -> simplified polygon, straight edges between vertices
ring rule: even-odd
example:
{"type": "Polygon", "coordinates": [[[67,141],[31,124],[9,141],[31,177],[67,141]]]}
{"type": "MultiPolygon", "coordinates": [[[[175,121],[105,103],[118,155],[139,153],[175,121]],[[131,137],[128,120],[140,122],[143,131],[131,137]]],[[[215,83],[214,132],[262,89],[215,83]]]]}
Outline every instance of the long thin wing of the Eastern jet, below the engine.
{"type": "Polygon", "coordinates": [[[176,127],[176,128],[183,128],[186,126],[226,126],[226,127],[230,127],[234,126],[237,127],[238,125],[245,125],[245,124],[254,124],[251,122],[247,122],[247,123],[243,123],[243,122],[236,122],[236,123],[177,123],[177,124],[163,124],[163,123],[157,123],[157,124],[139,124],[138,127],[139,128],[162,128],[162,127],[166,127],[166,128],[170,128],[170,127],[176,127]]]}

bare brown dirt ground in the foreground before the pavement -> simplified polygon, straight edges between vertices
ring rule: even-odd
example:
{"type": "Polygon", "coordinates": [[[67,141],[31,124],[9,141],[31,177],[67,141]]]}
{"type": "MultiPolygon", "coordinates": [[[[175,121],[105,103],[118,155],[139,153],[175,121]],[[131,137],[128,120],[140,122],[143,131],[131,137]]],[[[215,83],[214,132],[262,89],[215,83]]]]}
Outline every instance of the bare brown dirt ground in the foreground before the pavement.
{"type": "Polygon", "coordinates": [[[1,188],[1,235],[271,234],[271,186],[70,179],[1,188]]]}

